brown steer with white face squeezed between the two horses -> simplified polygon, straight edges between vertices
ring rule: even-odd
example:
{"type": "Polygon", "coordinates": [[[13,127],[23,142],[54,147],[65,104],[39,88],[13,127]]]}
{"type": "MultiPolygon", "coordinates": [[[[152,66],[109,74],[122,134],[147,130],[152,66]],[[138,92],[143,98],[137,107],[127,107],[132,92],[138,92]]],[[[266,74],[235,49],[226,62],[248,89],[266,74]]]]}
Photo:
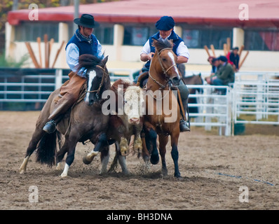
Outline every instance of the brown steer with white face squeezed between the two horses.
{"type": "MultiPolygon", "coordinates": [[[[132,135],[135,135],[135,141],[133,141],[134,151],[137,153],[142,151],[142,139],[140,138],[140,132],[142,131],[141,106],[144,99],[141,92],[141,88],[135,86],[130,81],[118,79],[111,85],[111,91],[106,93],[109,94],[109,101],[106,103],[109,105],[107,139],[111,142],[116,141],[116,156],[110,170],[114,170],[118,160],[123,173],[128,174],[128,169],[125,165],[125,155],[128,153],[128,143],[132,135]]],[[[86,165],[90,164],[98,153],[94,149],[83,157],[83,162],[86,165]]],[[[102,150],[101,155],[102,153],[106,157],[102,161],[101,174],[107,172],[107,164],[109,162],[107,149],[102,150]]]]}

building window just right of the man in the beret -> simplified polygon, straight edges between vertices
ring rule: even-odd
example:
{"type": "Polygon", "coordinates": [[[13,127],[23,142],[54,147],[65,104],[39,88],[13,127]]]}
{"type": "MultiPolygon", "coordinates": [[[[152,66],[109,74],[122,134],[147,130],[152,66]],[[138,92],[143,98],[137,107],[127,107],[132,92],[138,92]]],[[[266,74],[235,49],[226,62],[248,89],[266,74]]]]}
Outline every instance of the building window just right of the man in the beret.
{"type": "Polygon", "coordinates": [[[210,47],[214,45],[215,49],[222,50],[226,38],[231,38],[232,29],[183,29],[182,39],[188,48],[203,48],[204,45],[210,47]]]}

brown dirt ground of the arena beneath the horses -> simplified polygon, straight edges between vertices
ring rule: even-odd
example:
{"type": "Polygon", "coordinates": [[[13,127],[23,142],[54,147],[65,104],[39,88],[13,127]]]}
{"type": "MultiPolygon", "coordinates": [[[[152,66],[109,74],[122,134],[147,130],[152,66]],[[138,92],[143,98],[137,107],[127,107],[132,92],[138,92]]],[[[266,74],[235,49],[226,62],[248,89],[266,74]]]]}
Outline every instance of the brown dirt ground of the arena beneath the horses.
{"type": "MultiPolygon", "coordinates": [[[[181,181],[173,177],[168,145],[168,177],[161,162],[144,171],[143,160],[129,155],[130,175],[99,175],[100,158],[84,165],[92,148],[78,144],[69,176],[35,162],[18,169],[34,131],[38,111],[0,111],[0,209],[279,209],[279,127],[247,127],[245,135],[222,137],[192,127],[179,138],[181,181]],[[259,134],[261,133],[261,134],[259,134]],[[29,202],[36,186],[39,202],[29,202]],[[240,187],[246,191],[239,191],[240,187]],[[240,202],[248,193],[249,202],[240,202]]],[[[114,150],[111,150],[111,160],[114,150]]]]}

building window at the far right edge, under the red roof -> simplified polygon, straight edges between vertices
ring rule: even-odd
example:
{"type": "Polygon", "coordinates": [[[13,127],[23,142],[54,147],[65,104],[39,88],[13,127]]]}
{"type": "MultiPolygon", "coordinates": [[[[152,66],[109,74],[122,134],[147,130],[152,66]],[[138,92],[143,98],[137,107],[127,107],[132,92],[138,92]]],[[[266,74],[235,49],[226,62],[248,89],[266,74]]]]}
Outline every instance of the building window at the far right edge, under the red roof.
{"type": "Polygon", "coordinates": [[[279,31],[245,30],[245,50],[279,50],[279,31]]]}

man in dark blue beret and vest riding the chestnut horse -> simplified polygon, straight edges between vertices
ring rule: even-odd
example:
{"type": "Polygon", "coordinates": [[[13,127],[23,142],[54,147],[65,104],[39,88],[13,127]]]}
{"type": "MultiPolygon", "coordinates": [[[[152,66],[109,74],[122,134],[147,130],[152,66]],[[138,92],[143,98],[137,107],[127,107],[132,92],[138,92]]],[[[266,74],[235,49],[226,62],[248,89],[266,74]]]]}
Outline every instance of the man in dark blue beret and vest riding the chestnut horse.
{"type": "MultiPolygon", "coordinates": [[[[159,30],[158,33],[154,34],[149,38],[149,40],[144,44],[142,52],[140,53],[140,59],[142,60],[142,62],[147,62],[142,68],[142,73],[144,73],[145,71],[149,71],[150,62],[155,53],[155,48],[152,45],[154,38],[156,40],[162,41],[172,40],[174,43],[172,50],[173,52],[175,52],[175,55],[177,55],[177,64],[188,62],[189,50],[186,47],[182,38],[175,34],[175,31],[173,30],[173,28],[175,27],[175,20],[173,20],[173,18],[170,16],[163,16],[160,20],[156,22],[155,27],[159,30]]],[[[135,78],[134,83],[137,83],[138,78],[139,76],[135,78]]],[[[188,106],[189,90],[186,87],[186,85],[184,85],[182,80],[180,81],[177,87],[179,88],[183,108],[186,113],[188,106]]],[[[182,116],[182,120],[180,120],[179,123],[180,132],[189,132],[190,128],[187,125],[186,120],[183,119],[183,117],[184,116],[182,116]]]]}

